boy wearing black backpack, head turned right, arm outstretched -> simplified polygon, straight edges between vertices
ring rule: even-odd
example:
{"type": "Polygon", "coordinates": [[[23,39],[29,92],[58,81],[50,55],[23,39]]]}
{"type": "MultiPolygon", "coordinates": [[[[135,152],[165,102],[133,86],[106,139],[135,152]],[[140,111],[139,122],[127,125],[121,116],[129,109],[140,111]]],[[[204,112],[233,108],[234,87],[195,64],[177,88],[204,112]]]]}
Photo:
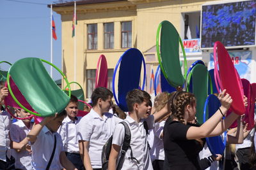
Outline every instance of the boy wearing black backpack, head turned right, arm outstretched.
{"type": "MultiPolygon", "coordinates": [[[[124,162],[121,169],[153,169],[150,160],[147,132],[144,127],[144,121],[147,122],[148,129],[154,128],[154,122],[163,118],[168,111],[166,104],[164,108],[154,115],[150,115],[150,96],[147,92],[139,89],[134,89],[128,92],[126,103],[129,110],[129,115],[125,118],[131,131],[131,143],[129,149],[125,153],[124,162]],[[132,155],[131,155],[132,151],[132,155]]],[[[118,164],[118,155],[124,143],[124,125],[116,125],[113,134],[112,148],[109,155],[108,169],[114,170],[118,164]]]]}

